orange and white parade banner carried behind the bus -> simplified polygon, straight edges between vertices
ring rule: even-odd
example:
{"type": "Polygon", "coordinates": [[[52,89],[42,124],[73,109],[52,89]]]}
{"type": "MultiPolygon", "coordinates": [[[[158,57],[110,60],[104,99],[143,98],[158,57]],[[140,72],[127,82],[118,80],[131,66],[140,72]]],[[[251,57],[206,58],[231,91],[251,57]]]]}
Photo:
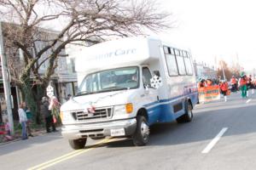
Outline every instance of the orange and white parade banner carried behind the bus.
{"type": "Polygon", "coordinates": [[[205,88],[198,88],[199,102],[209,102],[220,99],[219,87],[208,86],[205,88]]]}

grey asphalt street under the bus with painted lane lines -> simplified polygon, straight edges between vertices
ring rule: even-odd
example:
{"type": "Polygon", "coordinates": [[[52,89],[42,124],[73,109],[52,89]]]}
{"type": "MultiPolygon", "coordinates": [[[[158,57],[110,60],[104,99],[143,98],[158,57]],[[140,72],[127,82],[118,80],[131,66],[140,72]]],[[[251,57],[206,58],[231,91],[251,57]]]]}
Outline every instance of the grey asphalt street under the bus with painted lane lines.
{"type": "Polygon", "coordinates": [[[89,140],[72,150],[61,133],[0,146],[0,169],[256,169],[256,94],[197,105],[192,122],[150,127],[143,147],[131,139],[89,140]]]}

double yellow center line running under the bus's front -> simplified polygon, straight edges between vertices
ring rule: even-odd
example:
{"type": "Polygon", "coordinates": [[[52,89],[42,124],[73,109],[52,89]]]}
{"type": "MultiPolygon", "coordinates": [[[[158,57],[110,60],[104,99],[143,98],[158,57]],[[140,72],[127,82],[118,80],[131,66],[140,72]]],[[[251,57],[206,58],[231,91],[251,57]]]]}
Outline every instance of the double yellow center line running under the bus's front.
{"type": "Polygon", "coordinates": [[[66,160],[71,159],[71,158],[73,158],[75,156],[79,156],[79,155],[81,155],[81,154],[83,154],[85,152],[88,152],[90,150],[95,149],[97,146],[99,146],[101,144],[106,144],[106,143],[111,142],[113,140],[114,139],[103,139],[103,140],[97,142],[94,146],[92,146],[89,149],[73,151],[73,152],[71,152],[69,154],[66,154],[64,156],[57,157],[57,158],[55,158],[53,160],[50,160],[50,161],[46,161],[46,162],[44,162],[44,163],[42,163],[42,164],[40,164],[38,166],[28,168],[27,170],[35,170],[35,169],[43,170],[43,169],[45,169],[47,167],[51,167],[51,166],[53,166],[53,165],[55,165],[57,163],[60,163],[61,161],[66,161],[66,160]]]}

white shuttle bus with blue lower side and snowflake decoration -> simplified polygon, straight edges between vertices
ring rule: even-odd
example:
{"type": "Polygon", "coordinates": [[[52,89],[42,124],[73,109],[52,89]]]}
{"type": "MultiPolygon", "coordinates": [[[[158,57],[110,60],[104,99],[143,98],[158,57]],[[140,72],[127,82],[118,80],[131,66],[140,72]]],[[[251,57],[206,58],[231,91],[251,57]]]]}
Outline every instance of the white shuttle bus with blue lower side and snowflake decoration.
{"type": "Polygon", "coordinates": [[[128,37],[77,56],[79,92],[61,105],[61,133],[73,149],[108,136],[131,137],[140,146],[154,123],[192,120],[198,92],[188,50],[128,37]]]}

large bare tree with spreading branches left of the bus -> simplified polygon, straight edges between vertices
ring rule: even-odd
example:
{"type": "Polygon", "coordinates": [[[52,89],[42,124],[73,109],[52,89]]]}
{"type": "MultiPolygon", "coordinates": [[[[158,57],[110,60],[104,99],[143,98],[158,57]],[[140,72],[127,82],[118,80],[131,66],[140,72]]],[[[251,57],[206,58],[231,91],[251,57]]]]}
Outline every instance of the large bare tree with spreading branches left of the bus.
{"type": "MultiPolygon", "coordinates": [[[[155,1],[154,1],[155,2],[155,1]]],[[[170,26],[170,14],[150,0],[0,0],[12,81],[39,116],[39,100],[68,43],[102,42],[170,26]],[[11,24],[12,23],[12,24],[11,24]],[[42,29],[53,24],[60,31],[42,29]],[[61,24],[56,24],[61,23],[61,24]],[[47,33],[46,33],[47,32],[47,33]],[[21,58],[17,57],[21,56],[21,58]],[[20,59],[23,61],[19,65],[20,59]],[[48,63],[44,74],[39,68],[48,63]],[[37,90],[31,90],[37,85],[37,90]]]]}

